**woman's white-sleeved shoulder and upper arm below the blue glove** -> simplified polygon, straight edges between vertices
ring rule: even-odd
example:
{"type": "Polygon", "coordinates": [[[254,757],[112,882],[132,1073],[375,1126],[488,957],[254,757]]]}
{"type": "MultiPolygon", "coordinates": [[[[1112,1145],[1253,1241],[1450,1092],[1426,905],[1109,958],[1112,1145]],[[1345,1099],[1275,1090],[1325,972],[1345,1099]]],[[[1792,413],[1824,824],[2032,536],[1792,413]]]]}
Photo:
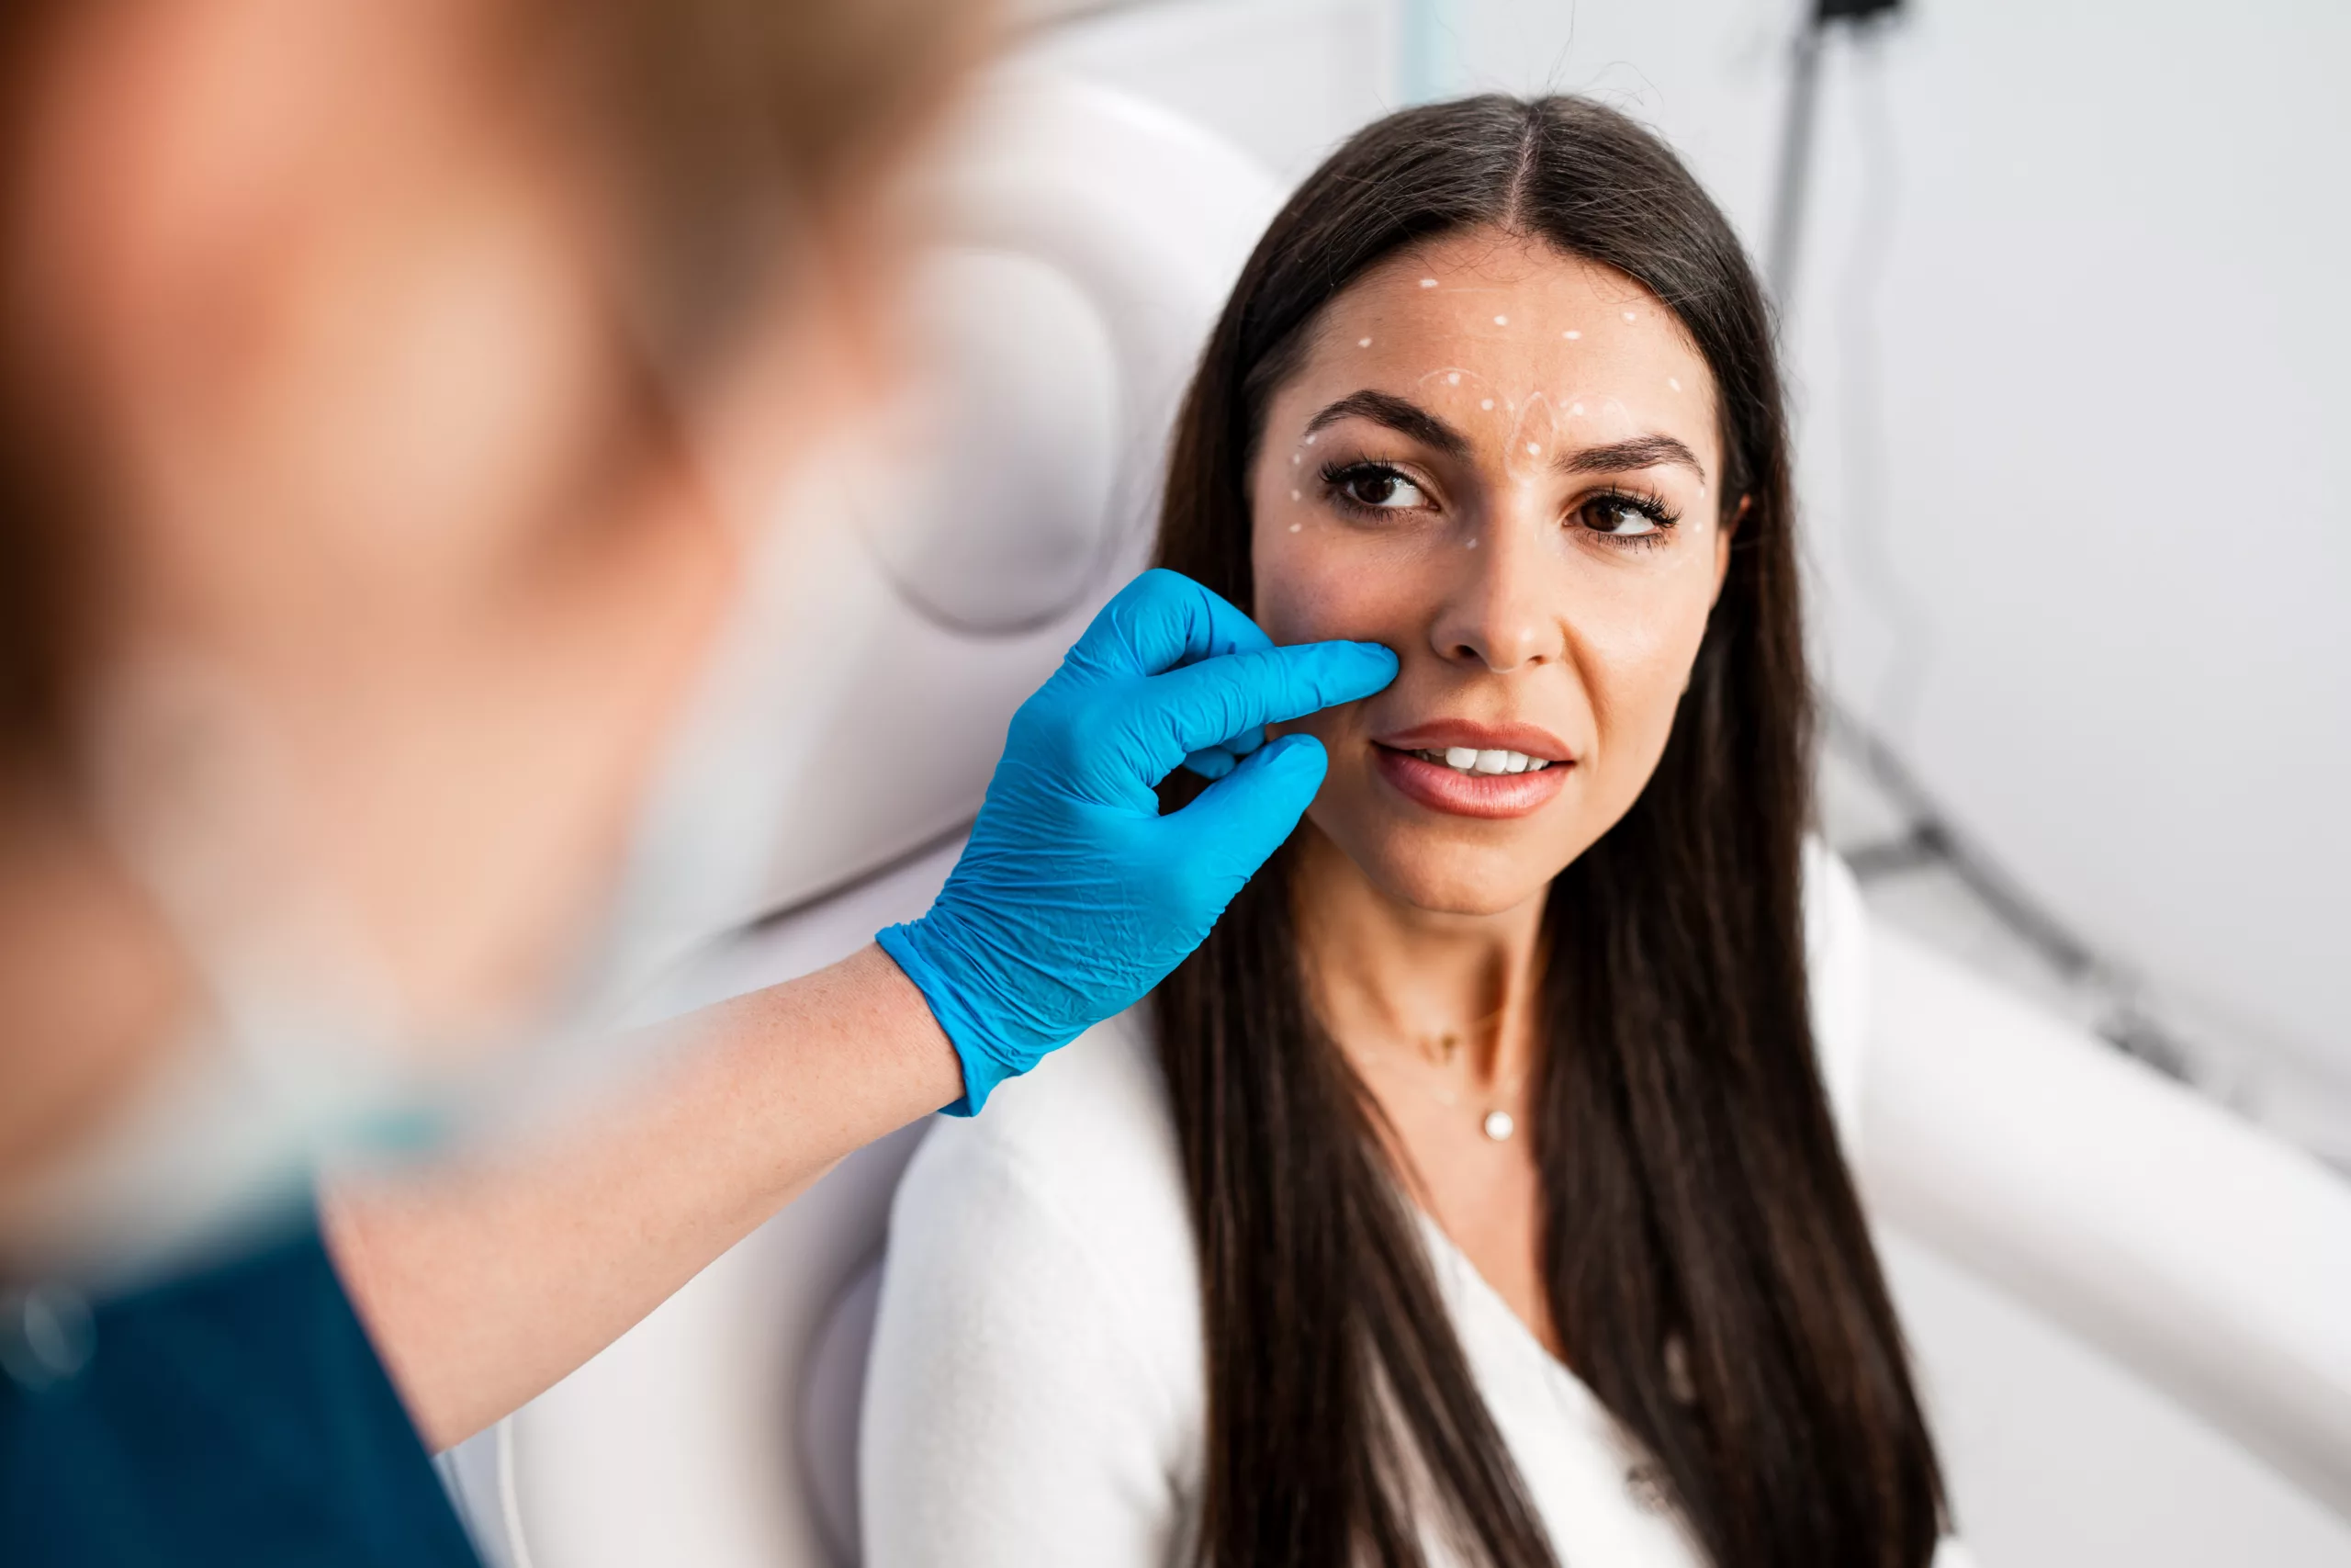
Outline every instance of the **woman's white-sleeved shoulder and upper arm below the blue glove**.
{"type": "Polygon", "coordinates": [[[940,1117],[898,1187],[865,1561],[1168,1561],[1204,1406],[1183,1166],[1131,1013],[940,1117]]]}

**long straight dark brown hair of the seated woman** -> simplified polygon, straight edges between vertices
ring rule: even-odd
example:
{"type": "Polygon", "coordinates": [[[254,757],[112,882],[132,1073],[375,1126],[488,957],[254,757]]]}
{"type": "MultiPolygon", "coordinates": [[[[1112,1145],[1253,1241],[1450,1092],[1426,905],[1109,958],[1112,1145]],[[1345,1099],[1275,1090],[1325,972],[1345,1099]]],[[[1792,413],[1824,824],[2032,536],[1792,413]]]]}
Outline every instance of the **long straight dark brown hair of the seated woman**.
{"type": "MultiPolygon", "coordinates": [[[[1549,891],[1531,1138],[1552,1319],[1714,1563],[1914,1568],[1942,1483],[1813,1056],[1787,425],[1721,212],[1655,136],[1582,99],[1465,99],[1357,134],[1274,219],[1208,339],[1159,562],[1251,602],[1272,390],[1366,268],[1472,226],[1665,301],[1714,371],[1726,527],[1747,501],[1655,776],[1549,891]]],[[[1201,1253],[1199,1561],[1406,1566],[1432,1530],[1469,1563],[1552,1563],[1378,1110],[1307,1001],[1284,856],[1154,1006],[1201,1253]]]]}

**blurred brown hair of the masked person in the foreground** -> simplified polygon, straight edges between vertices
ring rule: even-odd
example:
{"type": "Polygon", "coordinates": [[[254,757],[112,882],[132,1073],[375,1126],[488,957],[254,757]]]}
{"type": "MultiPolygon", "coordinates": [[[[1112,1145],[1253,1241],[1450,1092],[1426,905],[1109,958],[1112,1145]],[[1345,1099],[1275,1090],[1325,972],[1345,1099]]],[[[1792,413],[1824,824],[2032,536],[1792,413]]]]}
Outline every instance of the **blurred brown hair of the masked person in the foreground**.
{"type": "MultiPolygon", "coordinates": [[[[103,522],[35,360],[24,167],[52,42],[96,7],[0,5],[0,764],[63,757],[103,522]]],[[[691,374],[919,136],[983,40],[966,0],[484,0],[494,89],[550,110],[616,197],[647,350],[691,374]]]]}

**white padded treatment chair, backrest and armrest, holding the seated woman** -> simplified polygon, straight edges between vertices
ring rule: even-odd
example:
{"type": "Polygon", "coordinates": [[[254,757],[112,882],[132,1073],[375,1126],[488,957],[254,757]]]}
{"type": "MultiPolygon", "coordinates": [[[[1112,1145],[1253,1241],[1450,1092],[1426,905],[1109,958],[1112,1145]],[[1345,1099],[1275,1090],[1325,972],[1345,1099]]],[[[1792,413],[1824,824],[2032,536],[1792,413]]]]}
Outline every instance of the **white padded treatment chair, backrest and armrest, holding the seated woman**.
{"type": "MultiPolygon", "coordinates": [[[[788,672],[809,696],[741,712],[809,757],[776,802],[795,832],[741,907],[783,914],[691,964],[661,1006],[804,973],[926,907],[1013,705],[1143,564],[1173,402],[1272,205],[1246,160],[1119,96],[1034,75],[985,94],[924,270],[945,390],[907,418],[929,435],[898,447],[889,487],[863,470],[792,501],[830,550],[806,576],[820,588],[778,611],[799,628],[788,672]],[[877,757],[891,766],[863,766],[877,757]]],[[[853,1563],[875,1265],[922,1131],[844,1161],[447,1455],[489,1561],[853,1563]]],[[[1860,1164],[1878,1220],[1937,1265],[2097,1347],[2351,1521],[2337,1178],[1890,931],[1860,1164]]],[[[1911,1328],[1930,1371],[1968,1366],[1942,1324],[1911,1328]]],[[[1965,1523],[1968,1465],[1954,1476],[1965,1523]]]]}

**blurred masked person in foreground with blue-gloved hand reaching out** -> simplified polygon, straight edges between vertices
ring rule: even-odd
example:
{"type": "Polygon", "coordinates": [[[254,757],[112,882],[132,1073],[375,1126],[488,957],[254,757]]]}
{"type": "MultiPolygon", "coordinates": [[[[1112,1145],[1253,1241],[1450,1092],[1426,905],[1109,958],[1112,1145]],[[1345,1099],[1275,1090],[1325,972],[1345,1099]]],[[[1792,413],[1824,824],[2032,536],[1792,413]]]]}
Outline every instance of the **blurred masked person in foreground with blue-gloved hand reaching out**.
{"type": "Polygon", "coordinates": [[[1147,992],[1295,825],[1321,750],[1262,724],[1392,656],[1150,574],[924,919],[317,1194],[609,952],[980,47],[945,0],[0,12],[0,1559],[470,1561],[430,1448],[1147,992]],[[1178,764],[1223,783],[1159,816],[1178,764]]]}

